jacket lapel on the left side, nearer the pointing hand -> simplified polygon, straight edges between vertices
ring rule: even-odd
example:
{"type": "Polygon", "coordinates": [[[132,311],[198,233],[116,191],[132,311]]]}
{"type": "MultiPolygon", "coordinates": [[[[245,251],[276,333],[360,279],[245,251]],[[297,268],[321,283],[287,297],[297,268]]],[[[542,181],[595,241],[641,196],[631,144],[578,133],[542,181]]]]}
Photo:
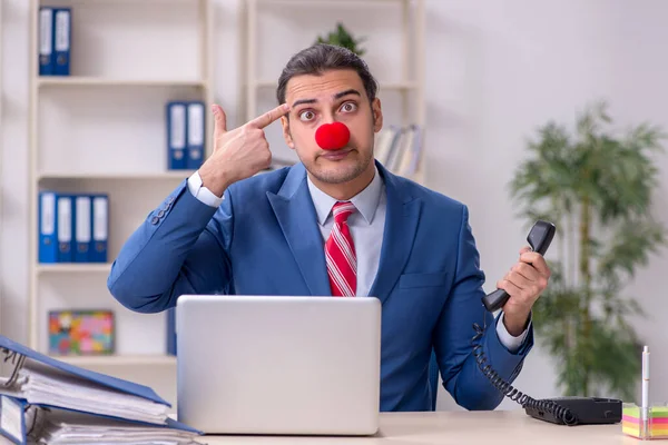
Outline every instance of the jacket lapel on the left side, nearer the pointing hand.
{"type": "Polygon", "coordinates": [[[292,167],[281,190],[277,194],[267,191],[267,197],[311,295],[332,295],[323,238],[304,166],[292,167]]]}

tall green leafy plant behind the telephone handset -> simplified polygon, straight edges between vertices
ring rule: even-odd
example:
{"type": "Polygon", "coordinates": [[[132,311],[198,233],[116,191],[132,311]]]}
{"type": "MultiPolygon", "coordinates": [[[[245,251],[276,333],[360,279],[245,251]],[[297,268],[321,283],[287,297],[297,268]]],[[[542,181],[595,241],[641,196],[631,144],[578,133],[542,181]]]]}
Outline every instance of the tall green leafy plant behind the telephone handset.
{"type": "Polygon", "coordinates": [[[611,123],[600,102],[577,117],[572,132],[553,121],[539,127],[510,190],[527,227],[557,225],[546,255],[552,277],[532,316],[558,363],[558,384],[566,395],[630,400],[641,345],[629,317],[644,312],[623,287],[666,241],[650,210],[652,155],[665,135],[647,123],[626,132],[611,123]]]}

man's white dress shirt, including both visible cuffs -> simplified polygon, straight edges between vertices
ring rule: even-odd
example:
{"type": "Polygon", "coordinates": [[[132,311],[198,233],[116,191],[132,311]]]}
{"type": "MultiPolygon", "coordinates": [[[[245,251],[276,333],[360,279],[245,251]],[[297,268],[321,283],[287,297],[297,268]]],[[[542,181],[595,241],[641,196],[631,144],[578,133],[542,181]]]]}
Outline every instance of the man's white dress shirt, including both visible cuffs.
{"type": "MultiPolygon", "coordinates": [[[[332,226],[334,225],[332,207],[337,200],[317,188],[308,177],[307,184],[324,243],[330,237],[332,226]]],[[[219,207],[220,202],[223,202],[224,197],[219,198],[215,196],[202,185],[202,178],[197,171],[188,178],[188,190],[195,198],[208,206],[219,207]]],[[[379,269],[383,231],[385,228],[385,185],[377,168],[371,184],[351,198],[350,201],[357,209],[347,219],[357,256],[356,296],[366,297],[379,269]]],[[[528,332],[528,329],[524,329],[518,337],[512,336],[503,325],[503,313],[501,313],[499,323],[497,324],[497,334],[501,344],[509,350],[517,352],[524,342],[528,332]]]]}

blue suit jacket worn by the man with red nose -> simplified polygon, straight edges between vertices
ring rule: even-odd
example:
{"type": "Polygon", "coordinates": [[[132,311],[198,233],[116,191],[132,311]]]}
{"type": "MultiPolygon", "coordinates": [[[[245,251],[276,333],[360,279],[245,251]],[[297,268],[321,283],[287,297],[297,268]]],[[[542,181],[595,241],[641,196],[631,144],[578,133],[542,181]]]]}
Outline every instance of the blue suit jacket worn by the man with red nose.
{"type": "MultiPolygon", "coordinates": [[[[484,275],[466,207],[376,165],[387,194],[370,293],[383,304],[381,411],[431,409],[432,348],[455,402],[493,409],[503,395],[472,354],[473,323],[487,323],[482,350],[510,382],[533,333],[514,354],[500,343],[495,320],[481,304],[484,275]]],[[[218,209],[193,197],[184,181],[127,240],[108,287],[124,306],[141,313],[174,307],[184,294],[331,295],[304,166],[233,185],[218,209]]]]}

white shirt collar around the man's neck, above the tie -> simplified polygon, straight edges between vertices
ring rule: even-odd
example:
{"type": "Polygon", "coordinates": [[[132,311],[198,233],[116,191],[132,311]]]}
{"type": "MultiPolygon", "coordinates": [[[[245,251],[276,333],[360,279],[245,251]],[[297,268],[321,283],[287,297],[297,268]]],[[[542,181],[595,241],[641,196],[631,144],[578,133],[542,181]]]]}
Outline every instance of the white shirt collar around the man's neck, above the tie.
{"type": "MultiPolygon", "coordinates": [[[[317,214],[317,221],[323,226],[327,220],[327,217],[332,214],[332,207],[337,200],[317,188],[315,184],[311,181],[308,175],[306,175],[306,177],[311,199],[313,200],[317,214]]],[[[364,217],[367,224],[373,221],[373,216],[375,215],[376,207],[381,200],[382,186],[383,181],[379,174],[379,168],[375,167],[371,184],[369,184],[364,190],[351,198],[351,202],[353,202],[357,211],[362,214],[362,217],[364,217]]]]}

